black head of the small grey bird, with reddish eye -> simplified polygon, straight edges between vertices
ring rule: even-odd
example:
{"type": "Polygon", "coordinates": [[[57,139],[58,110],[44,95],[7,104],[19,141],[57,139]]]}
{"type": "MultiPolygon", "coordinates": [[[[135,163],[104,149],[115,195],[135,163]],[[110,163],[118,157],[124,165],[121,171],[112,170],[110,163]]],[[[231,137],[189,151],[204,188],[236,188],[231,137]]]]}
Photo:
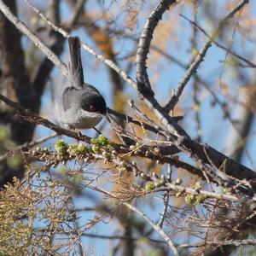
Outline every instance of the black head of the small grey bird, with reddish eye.
{"type": "Polygon", "coordinates": [[[97,93],[86,93],[82,96],[81,108],[88,112],[106,114],[106,102],[104,98],[97,93]]]}

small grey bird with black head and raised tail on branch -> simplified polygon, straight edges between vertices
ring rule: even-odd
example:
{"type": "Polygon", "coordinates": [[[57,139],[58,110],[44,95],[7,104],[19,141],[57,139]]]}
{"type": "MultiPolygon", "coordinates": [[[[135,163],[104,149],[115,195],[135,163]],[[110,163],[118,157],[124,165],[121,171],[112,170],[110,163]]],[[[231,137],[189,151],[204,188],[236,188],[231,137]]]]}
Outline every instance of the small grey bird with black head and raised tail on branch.
{"type": "Polygon", "coordinates": [[[61,99],[55,102],[55,119],[67,128],[90,129],[97,125],[102,117],[109,121],[106,102],[94,86],[84,83],[79,38],[68,38],[68,45],[69,87],[63,90],[61,99]]]}

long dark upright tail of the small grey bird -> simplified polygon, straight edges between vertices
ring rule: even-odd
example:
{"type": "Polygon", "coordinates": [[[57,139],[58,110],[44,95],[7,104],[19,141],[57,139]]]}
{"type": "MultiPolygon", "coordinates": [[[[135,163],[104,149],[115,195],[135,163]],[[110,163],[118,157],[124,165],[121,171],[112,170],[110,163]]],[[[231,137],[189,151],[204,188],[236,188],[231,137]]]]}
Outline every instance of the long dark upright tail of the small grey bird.
{"type": "Polygon", "coordinates": [[[81,60],[81,46],[78,37],[68,38],[70,62],[68,65],[68,77],[75,88],[83,88],[84,72],[81,60]]]}

